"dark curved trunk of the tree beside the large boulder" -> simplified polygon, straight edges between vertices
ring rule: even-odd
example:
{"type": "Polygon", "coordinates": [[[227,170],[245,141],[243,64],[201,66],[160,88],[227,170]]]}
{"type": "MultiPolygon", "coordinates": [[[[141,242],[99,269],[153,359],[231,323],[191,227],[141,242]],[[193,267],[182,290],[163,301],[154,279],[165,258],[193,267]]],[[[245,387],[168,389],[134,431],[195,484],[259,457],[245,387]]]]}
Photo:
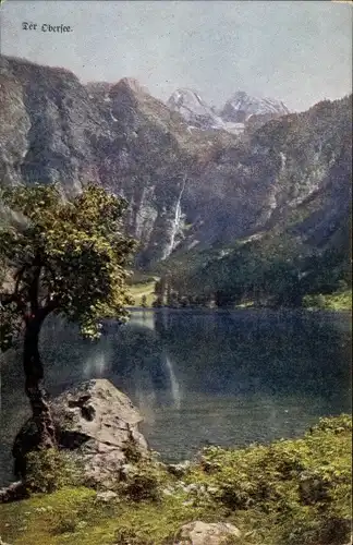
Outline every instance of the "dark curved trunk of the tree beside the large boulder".
{"type": "Polygon", "coordinates": [[[26,322],[23,367],[25,391],[31,403],[33,420],[38,429],[39,446],[49,448],[56,445],[56,433],[50,408],[41,386],[44,370],[38,347],[41,324],[42,319],[36,317],[32,317],[26,322]]]}

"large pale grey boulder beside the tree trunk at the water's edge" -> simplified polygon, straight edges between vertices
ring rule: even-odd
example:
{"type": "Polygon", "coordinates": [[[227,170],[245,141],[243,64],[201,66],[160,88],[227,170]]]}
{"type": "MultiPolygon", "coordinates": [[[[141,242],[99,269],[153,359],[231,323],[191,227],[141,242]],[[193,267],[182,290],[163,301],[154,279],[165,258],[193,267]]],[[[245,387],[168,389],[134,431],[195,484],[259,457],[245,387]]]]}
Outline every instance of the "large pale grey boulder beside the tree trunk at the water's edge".
{"type": "MultiPolygon", "coordinates": [[[[124,464],[148,456],[138,432],[142,416],[131,400],[107,379],[87,380],[50,402],[59,448],[80,460],[93,485],[111,487],[124,464]]],[[[25,456],[38,445],[29,419],[17,434],[13,457],[16,476],[25,475],[25,456]]]]}

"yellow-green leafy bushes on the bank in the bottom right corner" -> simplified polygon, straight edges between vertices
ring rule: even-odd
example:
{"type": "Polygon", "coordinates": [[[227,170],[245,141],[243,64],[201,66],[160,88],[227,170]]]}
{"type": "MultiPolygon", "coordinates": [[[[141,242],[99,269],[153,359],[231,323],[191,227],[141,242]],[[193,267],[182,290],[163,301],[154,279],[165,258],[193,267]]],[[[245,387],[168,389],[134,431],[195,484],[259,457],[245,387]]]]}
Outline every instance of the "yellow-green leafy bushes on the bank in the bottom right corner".
{"type": "Polygon", "coordinates": [[[214,505],[246,512],[245,519],[252,513],[254,521],[267,517],[277,529],[273,543],[344,543],[351,524],[351,435],[352,420],[342,415],[321,420],[303,439],[244,450],[211,447],[188,480],[206,484],[214,505]]]}

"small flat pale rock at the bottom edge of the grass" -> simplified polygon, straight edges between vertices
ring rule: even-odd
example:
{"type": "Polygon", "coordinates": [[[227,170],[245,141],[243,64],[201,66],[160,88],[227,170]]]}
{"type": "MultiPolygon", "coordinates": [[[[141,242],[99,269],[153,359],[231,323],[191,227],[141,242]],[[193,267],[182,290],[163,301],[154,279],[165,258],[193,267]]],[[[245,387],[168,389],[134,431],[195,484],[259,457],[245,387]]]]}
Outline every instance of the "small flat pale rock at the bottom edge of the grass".
{"type": "Polygon", "coordinates": [[[196,520],[180,529],[174,545],[221,545],[229,537],[241,537],[240,530],[233,524],[196,520]]]}

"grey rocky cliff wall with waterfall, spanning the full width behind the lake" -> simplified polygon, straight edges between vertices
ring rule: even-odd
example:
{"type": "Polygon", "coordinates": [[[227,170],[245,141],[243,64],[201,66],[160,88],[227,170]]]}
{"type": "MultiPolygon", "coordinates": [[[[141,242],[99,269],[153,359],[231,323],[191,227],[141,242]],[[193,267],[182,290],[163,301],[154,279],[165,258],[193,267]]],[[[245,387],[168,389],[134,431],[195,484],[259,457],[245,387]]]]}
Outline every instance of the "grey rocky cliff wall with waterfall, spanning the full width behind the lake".
{"type": "Polygon", "coordinates": [[[95,181],[122,194],[141,266],[270,229],[296,210],[306,215],[301,237],[317,241],[346,221],[349,98],[239,136],[191,129],[132,78],[83,85],[10,58],[0,70],[0,183],[59,181],[70,195],[95,181]]]}

